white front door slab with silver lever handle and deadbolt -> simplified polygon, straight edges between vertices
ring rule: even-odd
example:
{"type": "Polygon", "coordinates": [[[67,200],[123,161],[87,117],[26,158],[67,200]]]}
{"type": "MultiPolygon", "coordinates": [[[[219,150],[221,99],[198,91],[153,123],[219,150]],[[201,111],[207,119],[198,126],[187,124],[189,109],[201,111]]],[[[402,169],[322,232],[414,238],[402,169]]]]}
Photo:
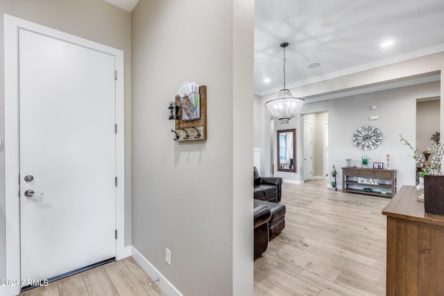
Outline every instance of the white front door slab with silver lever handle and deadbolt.
{"type": "Polygon", "coordinates": [[[116,256],[114,71],[113,55],[19,30],[22,281],[116,256]]]}

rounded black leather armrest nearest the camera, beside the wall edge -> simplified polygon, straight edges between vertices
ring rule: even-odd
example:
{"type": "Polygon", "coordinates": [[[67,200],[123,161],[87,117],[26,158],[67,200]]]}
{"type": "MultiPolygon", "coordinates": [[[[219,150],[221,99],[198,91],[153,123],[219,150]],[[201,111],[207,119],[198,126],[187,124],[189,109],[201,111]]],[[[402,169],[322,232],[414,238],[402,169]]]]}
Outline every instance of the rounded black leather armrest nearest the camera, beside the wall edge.
{"type": "Polygon", "coordinates": [[[255,207],[253,211],[255,217],[255,259],[262,255],[268,247],[268,220],[271,218],[271,211],[264,204],[255,207]]]}

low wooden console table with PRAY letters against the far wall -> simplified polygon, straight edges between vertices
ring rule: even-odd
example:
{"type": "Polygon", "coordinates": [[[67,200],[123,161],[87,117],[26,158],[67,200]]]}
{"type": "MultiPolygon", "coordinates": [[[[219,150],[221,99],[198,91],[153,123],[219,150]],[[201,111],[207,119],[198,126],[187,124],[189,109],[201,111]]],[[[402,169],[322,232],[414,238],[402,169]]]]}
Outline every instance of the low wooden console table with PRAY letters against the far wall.
{"type": "Polygon", "coordinates": [[[342,191],[392,198],[396,193],[396,171],[375,168],[342,168],[342,191]],[[371,191],[364,191],[371,189],[371,191]]]}

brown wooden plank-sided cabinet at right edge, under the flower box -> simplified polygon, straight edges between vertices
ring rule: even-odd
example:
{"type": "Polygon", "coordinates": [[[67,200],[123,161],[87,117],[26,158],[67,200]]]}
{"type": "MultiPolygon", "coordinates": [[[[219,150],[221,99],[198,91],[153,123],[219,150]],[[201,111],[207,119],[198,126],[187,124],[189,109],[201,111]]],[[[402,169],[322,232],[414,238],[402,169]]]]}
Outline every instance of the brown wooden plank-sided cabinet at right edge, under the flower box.
{"type": "Polygon", "coordinates": [[[425,214],[415,186],[402,186],[387,216],[386,295],[444,295],[444,216],[425,214]]]}

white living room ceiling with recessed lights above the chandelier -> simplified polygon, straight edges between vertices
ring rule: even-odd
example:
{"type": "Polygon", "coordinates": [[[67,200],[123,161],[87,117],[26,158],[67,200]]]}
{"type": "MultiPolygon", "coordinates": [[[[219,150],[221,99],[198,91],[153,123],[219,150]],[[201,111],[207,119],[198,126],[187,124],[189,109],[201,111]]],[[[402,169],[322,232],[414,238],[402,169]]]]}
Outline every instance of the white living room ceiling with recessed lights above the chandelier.
{"type": "Polygon", "coordinates": [[[282,42],[287,88],[444,51],[443,0],[255,0],[255,10],[259,95],[283,88],[282,42]]]}

